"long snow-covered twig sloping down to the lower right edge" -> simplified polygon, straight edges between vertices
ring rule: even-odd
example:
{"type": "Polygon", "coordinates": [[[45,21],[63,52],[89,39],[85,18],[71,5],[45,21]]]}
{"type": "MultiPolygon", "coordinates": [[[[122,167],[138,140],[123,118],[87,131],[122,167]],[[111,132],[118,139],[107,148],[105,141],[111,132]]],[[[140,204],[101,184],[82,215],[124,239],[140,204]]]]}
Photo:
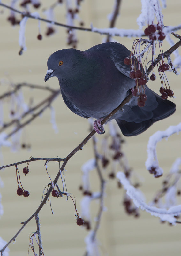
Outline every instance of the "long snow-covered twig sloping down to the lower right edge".
{"type": "Polygon", "coordinates": [[[176,223],[177,219],[174,216],[177,216],[181,213],[181,205],[172,206],[168,210],[165,208],[149,206],[142,200],[142,198],[140,198],[140,192],[130,184],[129,180],[126,178],[123,172],[118,172],[117,178],[124,186],[127,195],[133,200],[137,207],[140,207],[142,210],[151,213],[151,215],[155,217],[159,217],[162,221],[168,221],[172,224],[176,223]]]}

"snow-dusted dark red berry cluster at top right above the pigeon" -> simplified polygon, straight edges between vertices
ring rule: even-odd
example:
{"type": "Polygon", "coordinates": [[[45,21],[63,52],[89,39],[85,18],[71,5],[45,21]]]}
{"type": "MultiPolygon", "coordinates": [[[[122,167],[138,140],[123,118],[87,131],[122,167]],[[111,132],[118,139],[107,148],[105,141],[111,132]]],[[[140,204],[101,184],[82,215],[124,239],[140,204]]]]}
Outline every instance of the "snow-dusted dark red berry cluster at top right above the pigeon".
{"type": "Polygon", "coordinates": [[[158,23],[157,25],[151,24],[147,28],[145,28],[145,35],[149,36],[149,39],[151,41],[154,40],[164,40],[165,39],[165,33],[162,31],[163,27],[158,23]],[[158,30],[158,31],[157,31],[158,30]]]}

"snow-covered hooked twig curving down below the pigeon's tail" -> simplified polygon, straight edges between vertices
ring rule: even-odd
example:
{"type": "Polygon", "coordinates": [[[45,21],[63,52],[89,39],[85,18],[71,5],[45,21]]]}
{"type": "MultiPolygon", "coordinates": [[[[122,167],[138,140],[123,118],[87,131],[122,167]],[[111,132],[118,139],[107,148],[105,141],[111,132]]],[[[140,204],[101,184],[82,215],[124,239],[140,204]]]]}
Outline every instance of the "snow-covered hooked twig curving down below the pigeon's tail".
{"type": "Polygon", "coordinates": [[[178,133],[181,131],[181,123],[176,126],[170,126],[165,131],[157,131],[152,136],[150,136],[148,145],[147,145],[147,153],[148,157],[145,162],[145,166],[147,170],[154,174],[155,178],[162,175],[163,170],[159,167],[158,158],[156,154],[156,145],[163,138],[168,138],[170,135],[174,133],[178,133]]]}

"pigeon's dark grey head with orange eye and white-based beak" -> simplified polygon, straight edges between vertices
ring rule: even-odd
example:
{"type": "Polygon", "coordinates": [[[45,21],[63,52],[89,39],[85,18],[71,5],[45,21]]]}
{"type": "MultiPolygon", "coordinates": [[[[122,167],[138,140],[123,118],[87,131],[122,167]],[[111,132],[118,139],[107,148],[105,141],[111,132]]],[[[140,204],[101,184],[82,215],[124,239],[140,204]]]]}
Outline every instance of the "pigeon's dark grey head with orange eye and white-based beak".
{"type": "Polygon", "coordinates": [[[76,49],[63,49],[54,52],[50,55],[47,66],[47,74],[45,76],[45,82],[53,76],[57,76],[58,79],[64,79],[68,75],[72,74],[78,63],[81,63],[81,51],[76,49]]]}

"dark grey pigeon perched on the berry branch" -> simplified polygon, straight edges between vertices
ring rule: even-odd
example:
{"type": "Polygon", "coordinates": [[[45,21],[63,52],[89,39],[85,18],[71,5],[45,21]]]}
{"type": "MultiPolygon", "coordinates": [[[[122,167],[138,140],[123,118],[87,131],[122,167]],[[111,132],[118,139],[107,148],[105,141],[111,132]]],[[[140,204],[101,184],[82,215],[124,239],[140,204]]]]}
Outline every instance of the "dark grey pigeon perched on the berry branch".
{"type": "MultiPolygon", "coordinates": [[[[130,53],[117,42],[98,44],[85,51],[58,50],[48,59],[45,82],[56,76],[67,107],[81,117],[95,118],[94,129],[102,134],[103,118],[135,88],[135,79],[130,78],[130,66],[124,64],[130,53]]],[[[143,107],[138,106],[139,96],[134,96],[111,118],[116,119],[124,136],[139,135],[176,110],[173,102],[162,99],[147,85],[142,86],[143,89],[147,95],[143,107]]]]}

